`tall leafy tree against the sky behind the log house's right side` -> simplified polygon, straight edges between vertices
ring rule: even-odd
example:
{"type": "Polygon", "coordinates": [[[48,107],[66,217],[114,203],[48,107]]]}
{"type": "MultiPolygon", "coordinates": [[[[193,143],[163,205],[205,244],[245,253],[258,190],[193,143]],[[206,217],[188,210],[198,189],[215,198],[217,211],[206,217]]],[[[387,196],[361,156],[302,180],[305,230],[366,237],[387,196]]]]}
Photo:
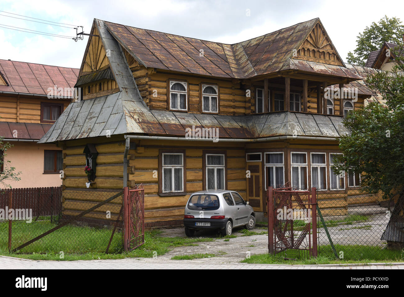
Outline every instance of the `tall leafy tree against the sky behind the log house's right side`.
{"type": "Polygon", "coordinates": [[[400,44],[403,40],[404,25],[399,18],[388,18],[386,15],[378,23],[372,22],[357,36],[356,49],[348,53],[347,61],[351,64],[364,66],[369,53],[377,51],[384,42],[400,44]]]}

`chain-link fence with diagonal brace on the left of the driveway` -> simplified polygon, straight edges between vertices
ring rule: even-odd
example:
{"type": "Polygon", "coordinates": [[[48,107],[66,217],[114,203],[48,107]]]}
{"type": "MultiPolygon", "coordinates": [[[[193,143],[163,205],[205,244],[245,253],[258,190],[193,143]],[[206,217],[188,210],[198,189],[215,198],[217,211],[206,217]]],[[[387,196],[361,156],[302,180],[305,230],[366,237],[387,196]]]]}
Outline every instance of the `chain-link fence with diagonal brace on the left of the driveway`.
{"type": "Polygon", "coordinates": [[[60,188],[51,194],[15,190],[2,191],[0,199],[1,251],[60,255],[105,253],[107,248],[109,253],[122,251],[121,232],[113,232],[122,228],[122,190],[77,189],[63,194],[60,188]]]}

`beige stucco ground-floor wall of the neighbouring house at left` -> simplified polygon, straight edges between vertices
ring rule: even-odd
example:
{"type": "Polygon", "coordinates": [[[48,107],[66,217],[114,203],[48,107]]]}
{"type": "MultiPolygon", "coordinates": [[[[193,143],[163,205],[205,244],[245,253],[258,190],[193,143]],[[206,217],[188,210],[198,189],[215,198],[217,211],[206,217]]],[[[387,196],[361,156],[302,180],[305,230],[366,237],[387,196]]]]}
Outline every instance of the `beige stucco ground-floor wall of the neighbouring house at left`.
{"type": "MultiPolygon", "coordinates": [[[[15,167],[21,171],[20,181],[5,181],[13,188],[22,187],[57,187],[62,184],[60,174],[44,173],[44,150],[60,150],[54,144],[38,144],[32,142],[11,142],[14,146],[6,151],[5,166],[15,167]]],[[[0,185],[0,187],[3,187],[0,185]]]]}

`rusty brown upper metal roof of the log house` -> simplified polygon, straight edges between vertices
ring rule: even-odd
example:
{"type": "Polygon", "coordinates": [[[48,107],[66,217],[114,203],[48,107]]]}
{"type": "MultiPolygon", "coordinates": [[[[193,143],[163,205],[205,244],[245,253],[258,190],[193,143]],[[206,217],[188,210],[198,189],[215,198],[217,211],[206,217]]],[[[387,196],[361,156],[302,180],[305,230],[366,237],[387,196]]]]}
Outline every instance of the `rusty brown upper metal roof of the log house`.
{"type": "Polygon", "coordinates": [[[343,66],[291,59],[293,50],[301,46],[318,21],[312,19],[235,44],[104,23],[145,67],[227,78],[251,78],[295,69],[357,79],[343,66]]]}

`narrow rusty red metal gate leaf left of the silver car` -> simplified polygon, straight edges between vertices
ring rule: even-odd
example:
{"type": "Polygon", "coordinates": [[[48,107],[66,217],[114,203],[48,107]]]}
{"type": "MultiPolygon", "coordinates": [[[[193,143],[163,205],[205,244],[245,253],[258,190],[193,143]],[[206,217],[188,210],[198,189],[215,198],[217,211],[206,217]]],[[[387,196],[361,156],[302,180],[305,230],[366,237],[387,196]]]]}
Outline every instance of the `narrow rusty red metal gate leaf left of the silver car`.
{"type": "Polygon", "coordinates": [[[124,251],[132,251],[145,243],[145,189],[124,188],[124,251]]]}

